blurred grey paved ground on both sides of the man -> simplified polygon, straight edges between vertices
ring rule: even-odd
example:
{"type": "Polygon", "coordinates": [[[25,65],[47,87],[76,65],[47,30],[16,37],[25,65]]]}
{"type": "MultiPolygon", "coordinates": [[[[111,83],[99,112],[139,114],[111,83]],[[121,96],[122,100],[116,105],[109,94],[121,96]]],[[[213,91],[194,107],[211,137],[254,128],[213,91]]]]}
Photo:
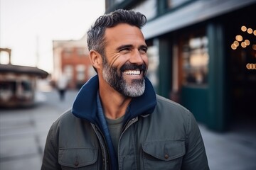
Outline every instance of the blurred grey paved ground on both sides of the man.
{"type": "MultiPolygon", "coordinates": [[[[0,110],[0,169],[36,170],[41,167],[48,129],[72,106],[78,91],[60,101],[56,91],[37,95],[33,108],[0,110]]],[[[217,133],[200,125],[211,170],[255,170],[256,129],[217,133]]],[[[196,169],[198,170],[198,169],[196,169]]]]}

